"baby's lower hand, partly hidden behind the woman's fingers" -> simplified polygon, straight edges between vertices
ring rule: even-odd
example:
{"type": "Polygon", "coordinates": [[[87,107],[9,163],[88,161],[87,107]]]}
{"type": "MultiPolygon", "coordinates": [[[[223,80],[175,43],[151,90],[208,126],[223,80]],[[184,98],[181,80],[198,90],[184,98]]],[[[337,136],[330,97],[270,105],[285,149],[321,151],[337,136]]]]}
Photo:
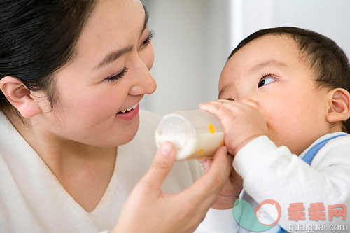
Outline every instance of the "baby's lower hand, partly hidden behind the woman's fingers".
{"type": "MultiPolygon", "coordinates": [[[[207,173],[213,160],[201,159],[198,160],[204,169],[204,174],[207,173]]],[[[220,195],[216,198],[215,202],[211,206],[213,209],[230,209],[235,204],[236,199],[239,199],[239,194],[243,188],[243,179],[233,167],[231,167],[231,173],[228,180],[225,182],[220,195]]]]}

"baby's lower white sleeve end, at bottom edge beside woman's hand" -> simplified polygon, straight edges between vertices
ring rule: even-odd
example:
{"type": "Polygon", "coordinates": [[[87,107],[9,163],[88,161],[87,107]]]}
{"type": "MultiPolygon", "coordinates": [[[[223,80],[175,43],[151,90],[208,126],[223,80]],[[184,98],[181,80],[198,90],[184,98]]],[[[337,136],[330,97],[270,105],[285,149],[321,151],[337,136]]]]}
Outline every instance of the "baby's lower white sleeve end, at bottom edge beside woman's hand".
{"type": "Polygon", "coordinates": [[[238,229],[239,225],[233,218],[232,209],[209,209],[195,233],[232,233],[238,232],[238,229]]]}

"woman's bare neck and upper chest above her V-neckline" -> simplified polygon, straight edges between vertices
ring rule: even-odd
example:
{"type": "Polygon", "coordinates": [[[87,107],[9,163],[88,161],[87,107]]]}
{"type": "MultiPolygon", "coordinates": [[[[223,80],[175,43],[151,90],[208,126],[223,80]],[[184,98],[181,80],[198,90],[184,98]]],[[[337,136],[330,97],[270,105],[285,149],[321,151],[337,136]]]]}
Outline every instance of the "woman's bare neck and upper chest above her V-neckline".
{"type": "Polygon", "coordinates": [[[89,146],[64,140],[33,122],[28,122],[27,126],[15,115],[6,117],[45,162],[64,190],[85,211],[93,211],[113,176],[117,147],[89,146]]]}

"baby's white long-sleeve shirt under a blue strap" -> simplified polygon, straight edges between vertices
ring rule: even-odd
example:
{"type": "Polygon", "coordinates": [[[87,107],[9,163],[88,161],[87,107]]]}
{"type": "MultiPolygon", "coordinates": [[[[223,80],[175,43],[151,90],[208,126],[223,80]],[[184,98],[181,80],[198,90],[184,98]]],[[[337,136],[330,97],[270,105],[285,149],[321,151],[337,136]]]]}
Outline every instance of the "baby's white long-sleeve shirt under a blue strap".
{"type": "MultiPolygon", "coordinates": [[[[244,190],[255,202],[273,199],[279,203],[281,218],[278,224],[285,230],[297,232],[297,229],[313,225],[322,228],[319,232],[334,232],[331,228],[344,226],[342,232],[350,232],[349,216],[346,216],[346,220],[342,220],[342,216],[333,216],[330,220],[328,215],[330,205],[344,204],[350,208],[350,135],[339,136],[326,143],[311,165],[301,159],[314,145],[338,134],[344,133],[322,136],[300,156],[290,153],[286,146],[277,147],[267,136],[260,136],[239,150],[233,167],[244,179],[244,190]],[[304,206],[304,220],[289,219],[293,211],[288,211],[288,208],[295,203],[304,206]],[[325,220],[309,219],[313,214],[309,207],[316,203],[323,203],[325,211],[317,212],[324,212],[325,220]]],[[[221,223],[221,230],[217,231],[212,212],[200,225],[200,228],[207,229],[206,232],[246,232],[242,227],[237,230],[233,214],[232,223],[227,223],[225,229],[221,223]]],[[[228,211],[218,213],[224,214],[228,216],[228,211]]]]}

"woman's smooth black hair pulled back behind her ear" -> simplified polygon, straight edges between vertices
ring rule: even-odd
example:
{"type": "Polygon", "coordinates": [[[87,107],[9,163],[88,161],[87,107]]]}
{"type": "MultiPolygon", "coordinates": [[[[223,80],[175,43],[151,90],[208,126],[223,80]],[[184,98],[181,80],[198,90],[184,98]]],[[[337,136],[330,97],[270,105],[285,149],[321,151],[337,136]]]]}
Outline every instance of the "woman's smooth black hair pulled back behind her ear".
{"type": "MultiPolygon", "coordinates": [[[[52,108],[57,101],[52,74],[73,57],[94,4],[94,0],[0,1],[0,79],[12,76],[29,90],[45,91],[52,108]]],[[[0,109],[8,107],[0,92],[0,109]]]]}

